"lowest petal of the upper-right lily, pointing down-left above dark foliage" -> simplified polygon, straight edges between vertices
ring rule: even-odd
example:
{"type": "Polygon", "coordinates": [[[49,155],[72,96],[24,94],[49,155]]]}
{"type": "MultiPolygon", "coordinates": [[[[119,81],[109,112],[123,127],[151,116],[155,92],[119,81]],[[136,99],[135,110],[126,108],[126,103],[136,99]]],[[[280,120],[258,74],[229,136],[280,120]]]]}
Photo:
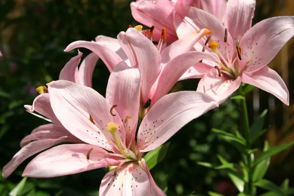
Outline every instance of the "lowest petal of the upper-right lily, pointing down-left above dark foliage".
{"type": "Polygon", "coordinates": [[[239,88],[240,84],[241,78],[239,76],[236,79],[228,79],[221,74],[220,77],[218,71],[212,68],[199,81],[197,91],[210,95],[221,104],[239,88]]]}

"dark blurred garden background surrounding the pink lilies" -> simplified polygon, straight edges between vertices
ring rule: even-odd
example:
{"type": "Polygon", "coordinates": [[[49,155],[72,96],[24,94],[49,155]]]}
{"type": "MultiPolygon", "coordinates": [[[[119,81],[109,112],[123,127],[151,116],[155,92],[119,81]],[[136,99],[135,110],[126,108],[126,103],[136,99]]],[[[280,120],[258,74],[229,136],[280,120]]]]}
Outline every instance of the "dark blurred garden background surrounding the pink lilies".
{"type": "MultiPolygon", "coordinates": [[[[97,35],[116,37],[128,25],[138,25],[132,19],[129,0],[0,0],[0,171],[20,149],[20,141],[35,127],[46,123],[27,112],[23,105],[32,104],[37,96],[36,87],[58,79],[60,70],[76,50],[65,53],[68,44],[76,40],[94,40],[97,35]]],[[[257,0],[253,23],[272,16],[294,15],[292,0],[257,0]]],[[[269,66],[280,73],[293,92],[293,39],[281,50],[269,66]]],[[[84,55],[89,53],[80,49],[84,55]]],[[[265,51],[266,52],[266,51],[265,51]]],[[[94,72],[93,88],[105,95],[109,72],[101,61],[94,72]]],[[[173,91],[196,90],[198,80],[178,82],[173,91]]],[[[266,108],[269,113],[266,126],[270,131],[264,140],[270,146],[294,140],[293,99],[284,106],[278,99],[254,90],[247,96],[250,122],[266,108]]],[[[207,195],[215,191],[226,196],[237,195],[237,190],[224,172],[196,164],[197,161],[219,164],[217,154],[238,163],[237,150],[211,132],[216,127],[228,132],[238,129],[239,108],[227,100],[220,108],[208,112],[187,124],[172,137],[166,158],[151,173],[168,196],[207,195]]],[[[240,130],[242,131],[242,130],[240,130]]],[[[290,179],[294,186],[293,150],[280,153],[271,159],[266,178],[277,185],[290,179]]],[[[8,193],[22,179],[26,160],[8,179],[0,177],[0,196],[8,193]]],[[[29,178],[25,195],[86,195],[98,194],[100,181],[107,169],[98,169],[75,175],[50,179],[29,178]]],[[[258,193],[263,192],[258,190],[258,193]]]]}

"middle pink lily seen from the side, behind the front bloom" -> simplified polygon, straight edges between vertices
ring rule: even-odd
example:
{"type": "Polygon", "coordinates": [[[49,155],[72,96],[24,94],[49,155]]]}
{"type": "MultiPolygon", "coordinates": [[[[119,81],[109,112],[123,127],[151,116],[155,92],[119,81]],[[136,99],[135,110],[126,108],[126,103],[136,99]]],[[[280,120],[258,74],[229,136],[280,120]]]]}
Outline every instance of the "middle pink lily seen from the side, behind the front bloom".
{"type": "MultiPolygon", "coordinates": [[[[202,29],[198,33],[192,32],[185,39],[172,43],[162,52],[158,51],[154,44],[135,28],[129,28],[126,32],[121,32],[118,35],[117,41],[127,56],[125,62],[130,67],[139,67],[142,75],[140,118],[157,100],[168,94],[181,75],[196,62],[202,59],[220,61],[213,52],[186,52],[191,50],[207,32],[210,31],[202,29]]],[[[65,51],[80,47],[90,49],[103,60],[108,70],[112,72],[114,67],[123,61],[120,55],[113,51],[114,45],[108,48],[95,42],[76,41],[70,44],[65,51]]]]}

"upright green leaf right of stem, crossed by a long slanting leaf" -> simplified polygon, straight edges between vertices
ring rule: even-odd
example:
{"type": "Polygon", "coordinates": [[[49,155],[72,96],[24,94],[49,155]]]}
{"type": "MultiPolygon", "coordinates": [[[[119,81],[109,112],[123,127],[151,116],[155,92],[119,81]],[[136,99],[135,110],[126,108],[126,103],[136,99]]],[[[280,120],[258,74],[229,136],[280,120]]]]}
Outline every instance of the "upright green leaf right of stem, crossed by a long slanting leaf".
{"type": "MultiPolygon", "coordinates": [[[[270,149],[269,142],[266,141],[264,146],[264,152],[266,152],[269,149],[270,149]]],[[[270,165],[270,157],[262,160],[259,164],[255,166],[255,169],[253,171],[253,176],[252,176],[253,182],[261,180],[265,176],[269,168],[269,165],[270,165]]]]}

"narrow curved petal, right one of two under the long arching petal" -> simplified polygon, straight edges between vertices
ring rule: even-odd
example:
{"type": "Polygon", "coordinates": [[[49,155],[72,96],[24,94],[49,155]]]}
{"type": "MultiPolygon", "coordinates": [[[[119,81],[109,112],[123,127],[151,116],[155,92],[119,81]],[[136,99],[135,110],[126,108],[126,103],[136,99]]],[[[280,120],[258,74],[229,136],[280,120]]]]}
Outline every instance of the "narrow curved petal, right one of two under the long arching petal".
{"type": "Polygon", "coordinates": [[[92,52],[82,61],[78,69],[79,84],[92,88],[92,76],[98,60],[97,54],[92,52]]]}

